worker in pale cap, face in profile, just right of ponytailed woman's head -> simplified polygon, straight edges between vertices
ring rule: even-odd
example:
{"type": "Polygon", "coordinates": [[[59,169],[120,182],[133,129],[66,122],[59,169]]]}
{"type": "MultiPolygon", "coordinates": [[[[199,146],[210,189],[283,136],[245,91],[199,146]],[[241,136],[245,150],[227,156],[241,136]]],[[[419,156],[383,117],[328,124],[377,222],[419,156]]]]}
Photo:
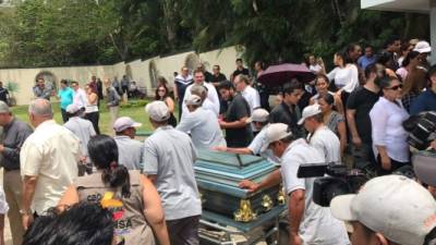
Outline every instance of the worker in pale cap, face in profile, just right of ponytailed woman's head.
{"type": "Polygon", "coordinates": [[[142,123],[133,121],[129,117],[121,117],[113,123],[119,162],[128,170],[143,169],[144,144],[135,140],[136,127],[142,126],[142,123]]]}

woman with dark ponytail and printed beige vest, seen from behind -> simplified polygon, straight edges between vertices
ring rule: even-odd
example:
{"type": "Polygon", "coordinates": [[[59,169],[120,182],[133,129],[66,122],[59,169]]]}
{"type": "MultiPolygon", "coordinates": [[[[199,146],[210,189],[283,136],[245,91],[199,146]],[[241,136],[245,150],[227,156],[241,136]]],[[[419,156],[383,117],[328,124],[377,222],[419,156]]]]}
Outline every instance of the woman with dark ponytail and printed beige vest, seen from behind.
{"type": "Polygon", "coordinates": [[[124,241],[125,245],[157,242],[169,245],[164,209],[153,183],[140,171],[128,171],[118,163],[117,143],[107,135],[94,136],[88,143],[88,152],[97,172],[77,177],[60,205],[85,200],[110,209],[116,224],[116,244],[124,241]]]}

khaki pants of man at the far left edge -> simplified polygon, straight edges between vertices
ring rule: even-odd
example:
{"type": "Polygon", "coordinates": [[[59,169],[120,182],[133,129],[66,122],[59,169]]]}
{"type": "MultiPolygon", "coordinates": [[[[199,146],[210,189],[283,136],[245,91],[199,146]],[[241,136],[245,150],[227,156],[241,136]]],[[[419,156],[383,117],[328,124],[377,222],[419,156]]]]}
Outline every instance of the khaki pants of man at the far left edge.
{"type": "Polygon", "coordinates": [[[24,228],[20,215],[23,192],[20,170],[4,170],[3,187],[9,205],[8,217],[11,225],[12,241],[14,245],[21,245],[23,243],[24,228]]]}

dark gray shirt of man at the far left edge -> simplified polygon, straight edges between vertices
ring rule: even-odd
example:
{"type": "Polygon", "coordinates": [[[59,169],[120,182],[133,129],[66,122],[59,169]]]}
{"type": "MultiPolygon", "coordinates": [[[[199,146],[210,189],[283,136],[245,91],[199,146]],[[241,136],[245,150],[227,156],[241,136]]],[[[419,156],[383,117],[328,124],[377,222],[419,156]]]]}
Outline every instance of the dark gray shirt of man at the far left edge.
{"type": "Polygon", "coordinates": [[[20,169],[20,150],[23,146],[24,140],[33,133],[29,125],[13,119],[11,123],[3,127],[2,143],[4,151],[2,154],[2,167],[5,170],[17,170],[20,169]]]}

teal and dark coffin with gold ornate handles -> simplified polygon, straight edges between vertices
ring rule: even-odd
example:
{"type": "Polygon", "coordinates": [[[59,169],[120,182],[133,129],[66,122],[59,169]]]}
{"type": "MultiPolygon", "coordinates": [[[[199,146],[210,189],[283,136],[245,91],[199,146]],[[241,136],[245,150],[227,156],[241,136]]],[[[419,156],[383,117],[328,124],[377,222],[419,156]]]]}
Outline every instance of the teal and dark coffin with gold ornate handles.
{"type": "Polygon", "coordinates": [[[279,185],[256,193],[238,187],[242,180],[261,182],[276,168],[256,156],[199,151],[194,169],[203,209],[251,222],[274,207],[284,205],[279,185]]]}

